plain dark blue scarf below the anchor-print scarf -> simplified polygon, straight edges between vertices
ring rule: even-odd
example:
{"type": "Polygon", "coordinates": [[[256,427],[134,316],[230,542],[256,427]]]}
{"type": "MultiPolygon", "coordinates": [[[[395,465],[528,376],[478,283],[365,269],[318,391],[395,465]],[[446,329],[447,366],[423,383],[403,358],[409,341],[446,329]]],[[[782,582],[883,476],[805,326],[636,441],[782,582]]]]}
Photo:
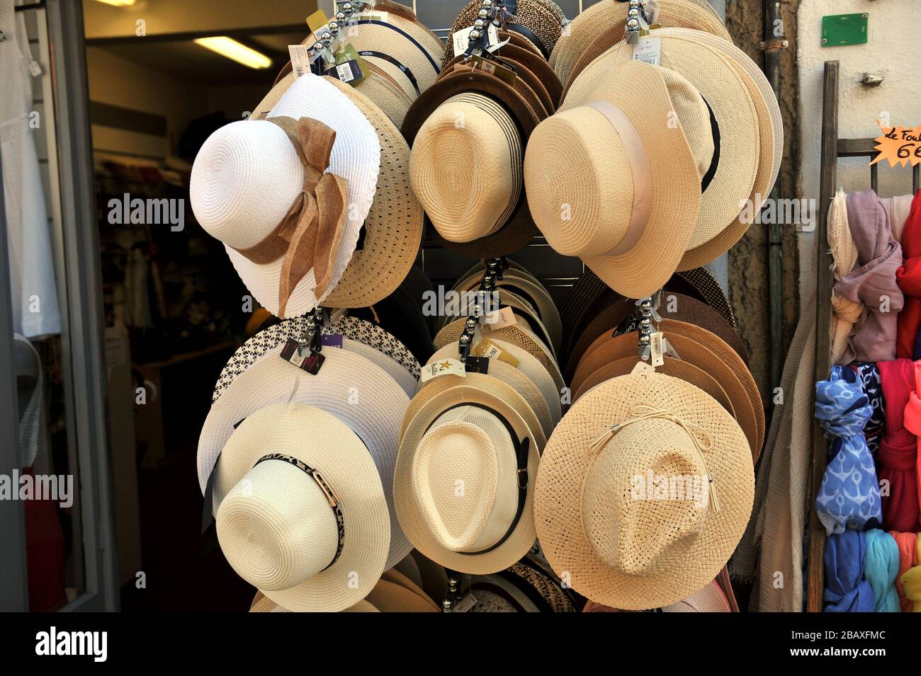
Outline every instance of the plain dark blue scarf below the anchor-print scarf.
{"type": "Polygon", "coordinates": [[[873,588],[864,576],[867,533],[847,530],[825,541],[825,613],[872,613],[873,588]]]}

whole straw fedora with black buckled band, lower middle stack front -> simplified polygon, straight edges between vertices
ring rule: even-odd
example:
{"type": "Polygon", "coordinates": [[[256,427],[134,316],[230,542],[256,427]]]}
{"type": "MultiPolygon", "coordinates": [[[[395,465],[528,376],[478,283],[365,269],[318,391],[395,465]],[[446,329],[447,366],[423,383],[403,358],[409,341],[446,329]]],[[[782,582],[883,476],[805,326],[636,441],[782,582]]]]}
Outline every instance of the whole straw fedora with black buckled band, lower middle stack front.
{"type": "Polygon", "coordinates": [[[482,373],[438,376],[403,420],[393,477],[403,532],[451,570],[511,566],[534,544],[528,477],[544,443],[540,421],[511,386],[482,373]]]}

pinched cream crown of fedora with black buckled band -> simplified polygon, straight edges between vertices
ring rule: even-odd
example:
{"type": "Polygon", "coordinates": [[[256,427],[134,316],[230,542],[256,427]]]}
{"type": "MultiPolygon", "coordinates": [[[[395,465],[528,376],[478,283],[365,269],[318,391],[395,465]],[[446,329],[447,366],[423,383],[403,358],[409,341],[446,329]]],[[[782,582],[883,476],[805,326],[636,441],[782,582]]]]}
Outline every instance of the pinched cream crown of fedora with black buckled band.
{"type": "Polygon", "coordinates": [[[480,552],[507,533],[518,509],[514,444],[502,422],[480,407],[442,414],[413,458],[416,505],[438,543],[480,552]]]}

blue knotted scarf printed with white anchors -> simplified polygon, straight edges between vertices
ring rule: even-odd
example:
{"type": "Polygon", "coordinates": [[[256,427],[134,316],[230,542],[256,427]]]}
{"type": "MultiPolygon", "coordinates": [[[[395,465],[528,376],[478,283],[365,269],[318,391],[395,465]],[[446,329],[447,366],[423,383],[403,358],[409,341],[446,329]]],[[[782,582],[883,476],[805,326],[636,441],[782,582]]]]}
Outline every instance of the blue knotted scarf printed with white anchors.
{"type": "Polygon", "coordinates": [[[834,439],[815,510],[825,532],[864,530],[880,524],[880,486],[863,430],[872,414],[857,372],[833,366],[828,380],[815,384],[815,417],[834,439]]]}

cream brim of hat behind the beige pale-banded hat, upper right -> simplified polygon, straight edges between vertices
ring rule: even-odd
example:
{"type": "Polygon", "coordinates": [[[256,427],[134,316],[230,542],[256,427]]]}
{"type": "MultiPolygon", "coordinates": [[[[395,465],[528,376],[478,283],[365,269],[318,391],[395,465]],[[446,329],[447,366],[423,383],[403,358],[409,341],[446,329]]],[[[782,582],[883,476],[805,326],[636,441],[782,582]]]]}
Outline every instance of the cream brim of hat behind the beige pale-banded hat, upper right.
{"type": "MultiPolygon", "coordinates": [[[[731,63],[732,59],[696,40],[697,31],[685,31],[682,36],[653,32],[661,40],[661,65],[687,78],[712,113],[715,150],[706,170],[707,180],[700,186],[700,216],[686,246],[689,253],[682,257],[679,266],[689,269],[718,258],[748,227],[749,223],[740,223],[739,217],[752,195],[761,164],[762,125],[746,78],[731,63]],[[729,235],[724,234],[727,232],[729,235]]],[[[608,79],[612,66],[629,63],[632,58],[632,48],[622,41],[590,63],[573,80],[560,109],[588,101],[592,89],[608,79]]]]}

